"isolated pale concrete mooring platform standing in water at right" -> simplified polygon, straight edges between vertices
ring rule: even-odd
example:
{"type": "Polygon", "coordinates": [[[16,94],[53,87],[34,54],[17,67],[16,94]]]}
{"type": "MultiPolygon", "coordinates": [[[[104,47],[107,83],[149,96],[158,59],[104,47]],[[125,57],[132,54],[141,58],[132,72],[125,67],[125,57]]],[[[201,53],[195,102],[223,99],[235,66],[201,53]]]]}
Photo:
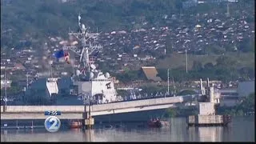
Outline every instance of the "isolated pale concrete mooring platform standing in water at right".
{"type": "MultiPolygon", "coordinates": [[[[202,86],[202,79],[200,80],[202,86]]],[[[199,102],[198,114],[187,118],[188,126],[226,126],[231,122],[230,115],[216,115],[215,105],[219,104],[219,93],[214,90],[214,85],[209,85],[207,79],[206,90],[202,89],[205,102],[199,102]]]]}

